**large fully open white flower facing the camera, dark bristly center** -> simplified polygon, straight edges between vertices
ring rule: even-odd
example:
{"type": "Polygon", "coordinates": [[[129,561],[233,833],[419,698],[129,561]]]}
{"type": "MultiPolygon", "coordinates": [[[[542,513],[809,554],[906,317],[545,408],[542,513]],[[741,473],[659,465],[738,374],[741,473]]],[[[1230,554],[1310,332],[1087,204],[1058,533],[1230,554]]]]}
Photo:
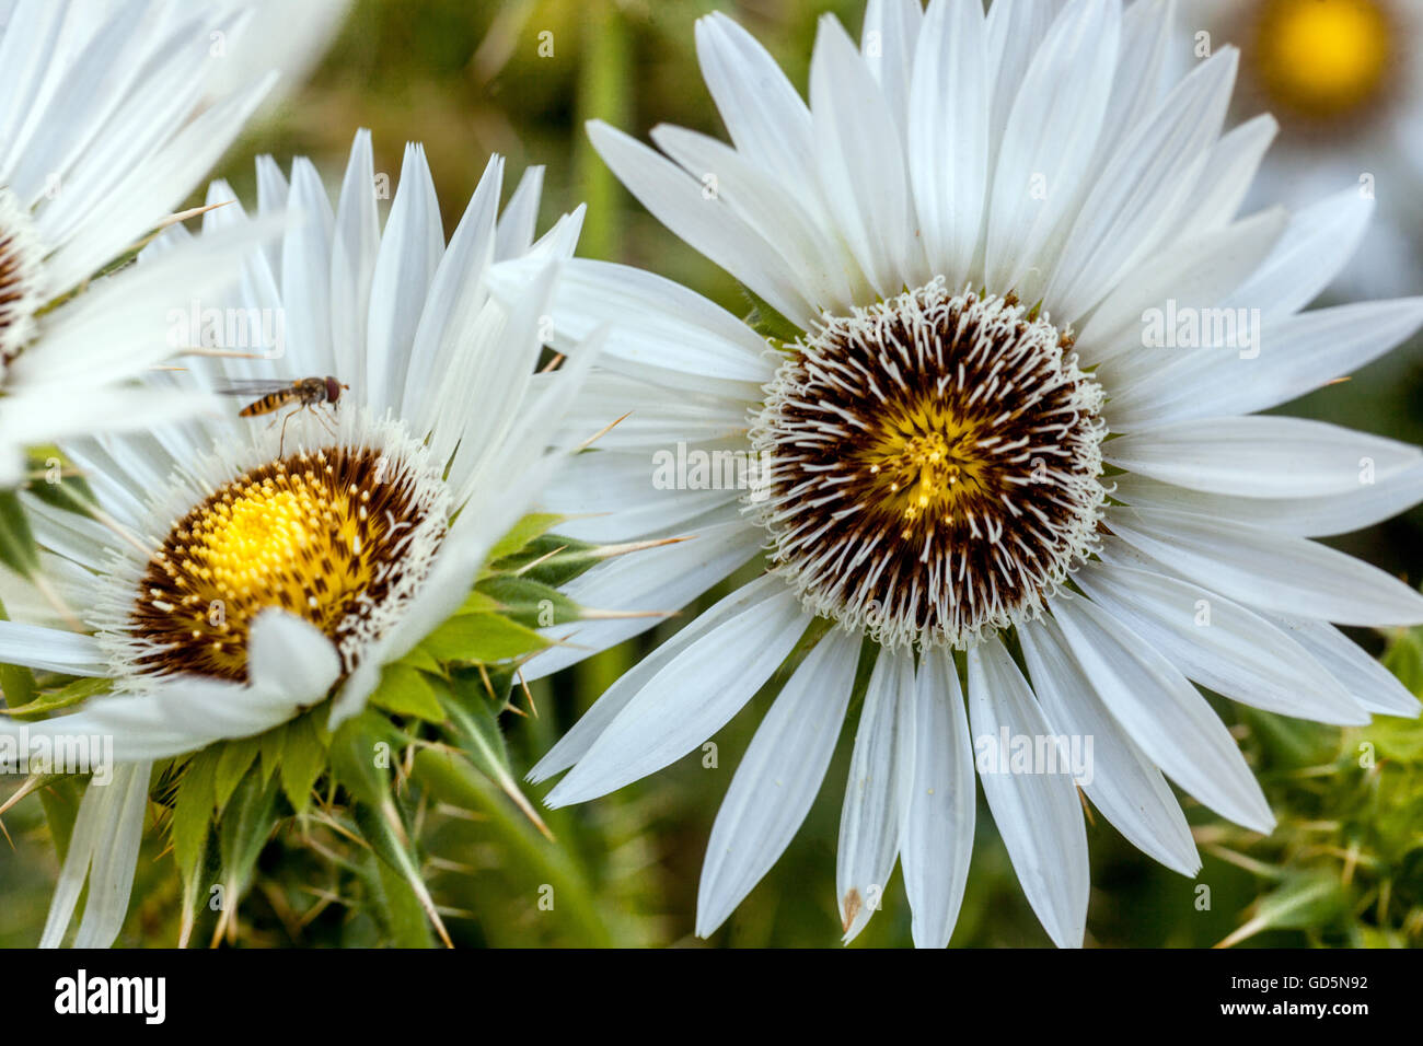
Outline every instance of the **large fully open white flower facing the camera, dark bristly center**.
{"type": "MultiPolygon", "coordinates": [[[[1192,682],[1326,723],[1416,714],[1335,625],[1417,623],[1423,598],[1309,538],[1417,502],[1423,453],[1255,413],[1397,344],[1423,300],[1301,312],[1372,204],[1345,186],[1294,216],[1237,218],[1274,121],[1222,130],[1231,48],[1165,81],[1168,7],[875,1],[859,48],[822,19],[808,107],[710,16],[697,51],[734,145],[659,127],[665,158],[591,127],[633,195],[754,295],[760,324],[625,266],[565,266],[558,334],[616,324],[578,410],[628,417],[545,505],[583,514],[562,529],[586,539],[694,538],[589,571],[571,595],[673,608],[763,551],[767,568],[615,683],[531,777],[571,767],[551,805],[635,781],[808,649],[713,827],[699,934],[804,818],[862,650],[847,939],[899,860],[915,942],[948,942],[975,768],[1059,945],[1081,942],[1087,912],[1076,786],[1187,875],[1200,858],[1168,778],[1268,833],[1192,682]]],[[[522,278],[501,266],[495,293],[522,278]]],[[[555,635],[586,649],[638,628],[555,635]]]]}

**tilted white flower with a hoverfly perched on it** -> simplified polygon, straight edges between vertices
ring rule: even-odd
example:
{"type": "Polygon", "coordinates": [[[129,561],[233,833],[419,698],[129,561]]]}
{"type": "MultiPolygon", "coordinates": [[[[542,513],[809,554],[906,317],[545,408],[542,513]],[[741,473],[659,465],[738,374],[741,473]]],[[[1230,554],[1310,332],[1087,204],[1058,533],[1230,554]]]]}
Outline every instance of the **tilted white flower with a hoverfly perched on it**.
{"type": "MultiPolygon", "coordinates": [[[[497,259],[571,255],[582,209],[534,243],[542,172],[497,218],[502,175],[495,157],[447,245],[418,145],[384,232],[367,132],[334,211],[309,161],[289,182],[259,159],[262,209],[287,204],[286,233],[203,315],[250,332],[277,317],[285,353],[202,359],[182,380],[320,376],[319,396],[270,424],[233,401],[221,420],[63,444],[85,470],[92,518],[26,495],[47,574],[88,633],[0,622],[0,662],[108,680],[112,693],[6,719],[0,733],[108,737],[118,764],[85,793],[44,944],[63,938],[85,872],[75,944],[114,939],[155,760],[256,736],[329,696],[330,729],[360,712],[381,669],[461,608],[551,471],[549,420],[586,364],[535,380],[552,270],[514,309],[490,299],[484,276],[497,259]]],[[[232,191],[218,182],[209,198],[232,191]]],[[[239,205],[211,211],[202,235],[248,221],[239,205]]],[[[171,229],[152,263],[188,239],[171,229]]]]}

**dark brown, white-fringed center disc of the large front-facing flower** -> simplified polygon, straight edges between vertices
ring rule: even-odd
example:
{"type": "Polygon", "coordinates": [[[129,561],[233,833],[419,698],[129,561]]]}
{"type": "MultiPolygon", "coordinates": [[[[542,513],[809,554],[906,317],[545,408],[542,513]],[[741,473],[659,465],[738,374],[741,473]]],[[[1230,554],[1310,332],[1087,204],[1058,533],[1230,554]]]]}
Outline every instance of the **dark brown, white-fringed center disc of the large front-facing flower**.
{"type": "Polygon", "coordinates": [[[827,317],[767,386],[748,501],[813,613],[963,648],[1030,618],[1089,555],[1103,393],[1070,332],[942,280],[827,317]]]}

